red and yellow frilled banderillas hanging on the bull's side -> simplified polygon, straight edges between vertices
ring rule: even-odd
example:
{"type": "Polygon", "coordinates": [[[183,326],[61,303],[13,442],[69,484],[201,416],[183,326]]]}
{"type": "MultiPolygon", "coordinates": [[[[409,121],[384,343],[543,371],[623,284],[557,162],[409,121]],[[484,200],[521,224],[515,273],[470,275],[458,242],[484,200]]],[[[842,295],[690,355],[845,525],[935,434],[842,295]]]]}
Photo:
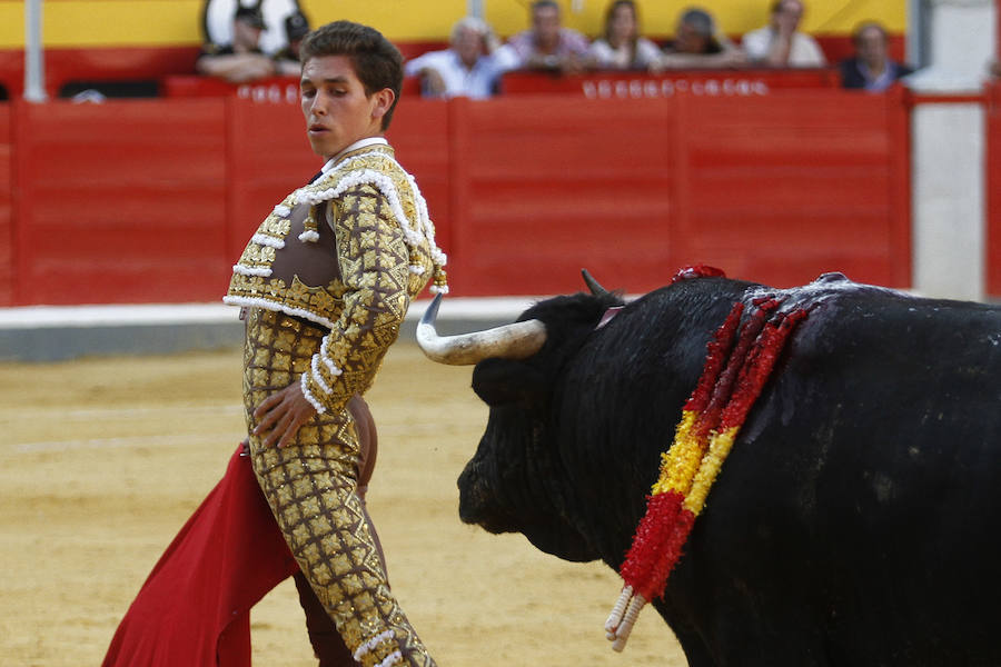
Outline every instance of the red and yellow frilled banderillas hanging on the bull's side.
{"type": "Polygon", "coordinates": [[[707,345],[705,366],[682,410],[674,442],[661,455],[661,474],[620,573],[624,586],[605,623],[612,648],[622,650],[640,610],[664,594],[695,517],[747,412],[769,379],[785,340],[806,317],[760,298],[751,312],[739,301],[707,345]],[[743,317],[743,323],[741,322],[743,317]]]}

